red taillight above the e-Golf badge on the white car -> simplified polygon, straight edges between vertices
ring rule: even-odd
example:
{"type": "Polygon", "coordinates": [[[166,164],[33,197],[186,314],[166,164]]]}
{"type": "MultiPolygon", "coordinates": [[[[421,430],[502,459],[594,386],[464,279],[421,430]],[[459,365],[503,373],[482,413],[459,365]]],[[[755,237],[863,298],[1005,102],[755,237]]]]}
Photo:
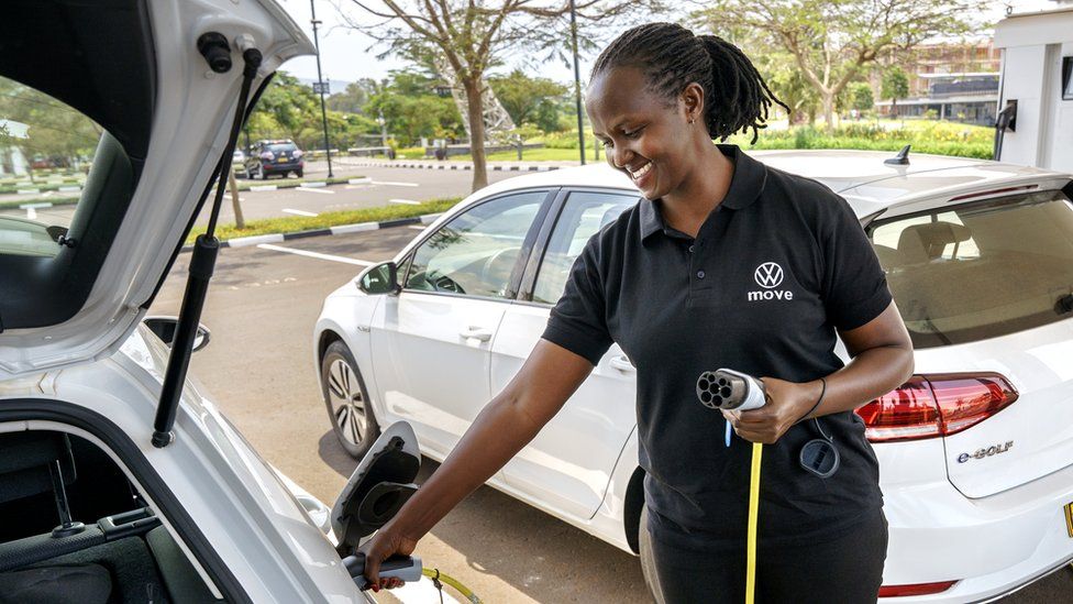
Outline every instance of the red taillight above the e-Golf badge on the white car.
{"type": "Polygon", "coordinates": [[[914,375],[899,388],[856,410],[872,442],[955,435],[1017,400],[997,373],[914,375]]]}

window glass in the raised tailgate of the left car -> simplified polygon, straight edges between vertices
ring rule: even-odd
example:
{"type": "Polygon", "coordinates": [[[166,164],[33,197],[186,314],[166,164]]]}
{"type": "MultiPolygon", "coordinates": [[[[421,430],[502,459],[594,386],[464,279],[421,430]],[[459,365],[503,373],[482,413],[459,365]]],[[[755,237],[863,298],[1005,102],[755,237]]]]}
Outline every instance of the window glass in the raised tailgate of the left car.
{"type": "Polygon", "coordinates": [[[0,77],[0,254],[59,253],[102,133],[67,105],[0,77]]]}

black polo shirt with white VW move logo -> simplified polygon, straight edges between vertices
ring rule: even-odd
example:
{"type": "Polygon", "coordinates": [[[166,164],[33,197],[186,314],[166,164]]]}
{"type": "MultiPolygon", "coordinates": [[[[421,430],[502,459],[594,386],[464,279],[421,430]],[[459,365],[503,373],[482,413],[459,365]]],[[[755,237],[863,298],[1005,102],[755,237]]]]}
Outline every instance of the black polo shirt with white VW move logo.
{"type": "MultiPolygon", "coordinates": [[[[701,372],[729,367],[807,382],[842,366],[836,329],[891,303],[883,271],[849,205],[823,185],[770,168],[733,145],[727,197],[697,238],[642,199],[595,234],[571,270],[543,338],[593,364],[618,342],[637,365],[640,462],[656,538],[719,550],[744,543],[752,443],[726,447],[722,414],[697,400],[701,372]]],[[[794,426],[764,448],[762,545],[844,534],[882,505],[878,466],[852,413],[825,416],[841,468],[800,468],[820,435],[794,426]]]]}

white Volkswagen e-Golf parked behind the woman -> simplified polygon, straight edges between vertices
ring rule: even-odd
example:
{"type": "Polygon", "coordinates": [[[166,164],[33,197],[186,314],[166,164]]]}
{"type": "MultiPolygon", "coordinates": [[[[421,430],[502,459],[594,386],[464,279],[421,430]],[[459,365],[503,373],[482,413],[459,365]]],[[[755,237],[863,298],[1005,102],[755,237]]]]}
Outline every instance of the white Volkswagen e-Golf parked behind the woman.
{"type": "MultiPolygon", "coordinates": [[[[858,411],[891,524],[881,595],[986,600],[1073,559],[1073,185],[893,155],[755,153],[849,200],[912,336],[914,378],[858,411]]],[[[343,446],[405,419],[444,458],[520,369],[586,241],[638,199],[604,165],[505,180],[332,293],[313,337],[343,446]]],[[[612,347],[490,484],[643,560],[634,387],[612,347]]]]}

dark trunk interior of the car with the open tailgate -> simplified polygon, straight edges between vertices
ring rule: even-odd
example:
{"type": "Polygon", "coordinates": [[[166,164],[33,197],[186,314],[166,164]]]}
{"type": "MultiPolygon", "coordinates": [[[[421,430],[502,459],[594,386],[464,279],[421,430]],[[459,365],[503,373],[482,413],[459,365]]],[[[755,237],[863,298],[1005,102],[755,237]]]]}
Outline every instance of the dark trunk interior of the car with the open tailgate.
{"type": "Polygon", "coordinates": [[[217,601],[99,447],[23,430],[0,451],[0,602],[217,601]]]}

